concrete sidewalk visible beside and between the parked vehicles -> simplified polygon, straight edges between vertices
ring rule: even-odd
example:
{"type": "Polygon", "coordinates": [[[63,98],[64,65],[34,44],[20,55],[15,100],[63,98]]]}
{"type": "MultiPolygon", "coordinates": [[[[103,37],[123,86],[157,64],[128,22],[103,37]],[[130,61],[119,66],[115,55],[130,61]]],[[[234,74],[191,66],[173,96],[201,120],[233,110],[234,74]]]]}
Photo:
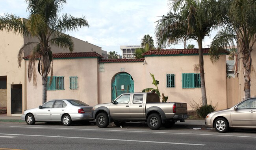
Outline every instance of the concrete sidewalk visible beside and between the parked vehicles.
{"type": "MultiPolygon", "coordinates": [[[[0,114],[0,122],[24,122],[25,123],[25,121],[21,120],[20,116],[6,116],[6,114],[0,114]]],[[[130,122],[128,124],[132,124],[132,123],[130,122]]],[[[174,128],[206,129],[204,120],[188,120],[188,119],[186,119],[184,123],[181,123],[180,121],[178,121],[177,123],[174,124],[173,127],[174,128]]]]}

